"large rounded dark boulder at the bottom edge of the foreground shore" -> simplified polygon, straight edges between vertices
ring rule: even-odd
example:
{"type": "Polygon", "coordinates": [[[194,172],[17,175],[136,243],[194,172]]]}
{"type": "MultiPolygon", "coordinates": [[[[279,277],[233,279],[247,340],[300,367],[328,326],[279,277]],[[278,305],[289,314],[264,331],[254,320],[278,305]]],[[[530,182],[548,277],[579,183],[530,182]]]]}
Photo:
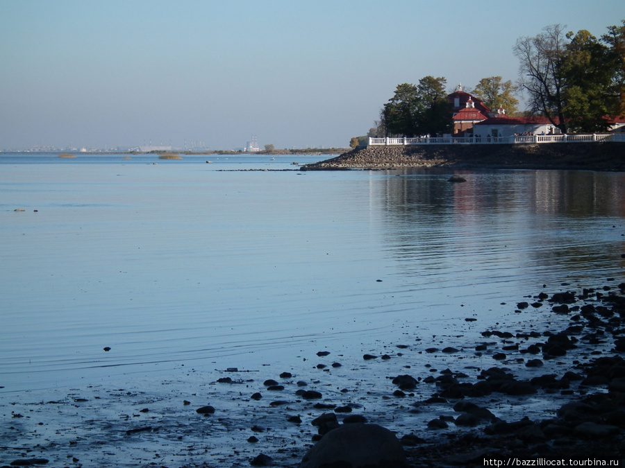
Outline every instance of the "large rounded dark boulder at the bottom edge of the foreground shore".
{"type": "Polygon", "coordinates": [[[377,424],[345,424],[306,453],[299,468],[403,468],[406,454],[394,433],[377,424]]]}

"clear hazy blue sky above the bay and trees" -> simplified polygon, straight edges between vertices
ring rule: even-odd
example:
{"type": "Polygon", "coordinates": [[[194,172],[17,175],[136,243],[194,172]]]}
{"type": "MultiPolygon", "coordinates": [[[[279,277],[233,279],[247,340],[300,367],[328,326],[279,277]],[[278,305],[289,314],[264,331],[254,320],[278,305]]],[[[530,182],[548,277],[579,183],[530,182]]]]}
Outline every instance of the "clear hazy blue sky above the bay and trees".
{"type": "Polygon", "coordinates": [[[0,149],[345,147],[399,83],[516,80],[518,37],[622,19],[623,0],[1,0],[0,149]]]}

